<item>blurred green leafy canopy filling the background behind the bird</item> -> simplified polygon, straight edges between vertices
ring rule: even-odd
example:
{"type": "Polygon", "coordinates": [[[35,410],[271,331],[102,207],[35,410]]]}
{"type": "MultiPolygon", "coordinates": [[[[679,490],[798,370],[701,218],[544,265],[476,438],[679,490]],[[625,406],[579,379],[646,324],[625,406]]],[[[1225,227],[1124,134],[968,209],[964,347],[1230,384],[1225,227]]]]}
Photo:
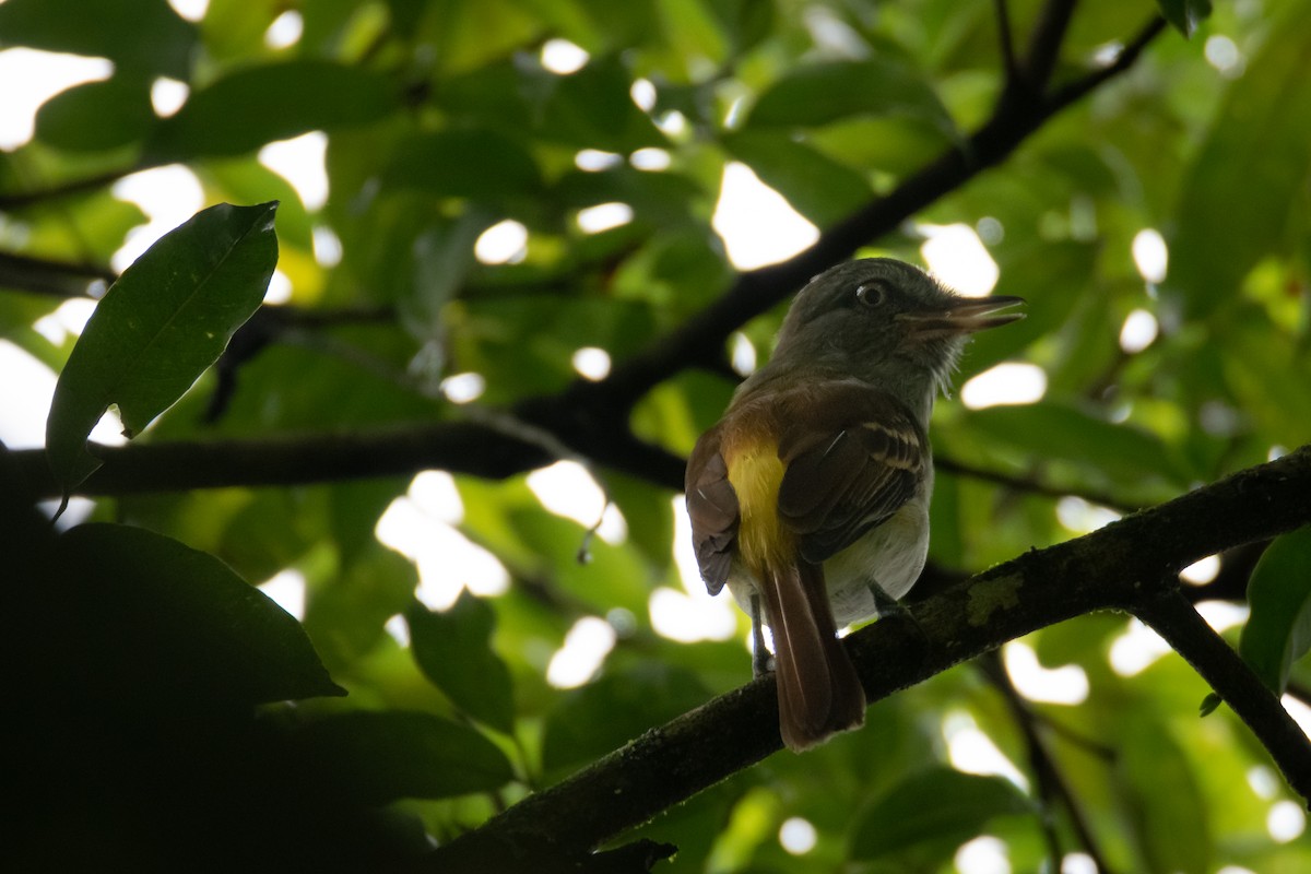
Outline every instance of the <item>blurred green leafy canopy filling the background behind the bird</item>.
{"type": "MultiPolygon", "coordinates": [[[[680,457],[732,390],[730,350],[768,354],[808,257],[920,261],[926,227],[965,224],[998,292],[1029,301],[958,381],[1028,362],[1042,400],[935,413],[929,594],[1071,540],[1097,507],[1308,442],[1298,0],[210,0],[195,22],[163,0],[7,0],[12,46],[114,62],[0,156],[0,338],[63,371],[54,473],[0,453],[0,630],[26,668],[8,845],[42,867],[176,870],[201,848],[216,867],[384,867],[747,683],[745,617],[729,641],[675,642],[650,603],[682,586],[680,457]],[[265,39],[279,16],[302,24],[290,46],[265,39]],[[586,63],[548,69],[553,39],[586,63]],[[168,117],[161,79],[189,88],[168,117]],[[258,161],[311,131],[328,144],[321,207],[258,161]],[[712,224],[732,161],[827,231],[810,256],[733,266],[712,224]],[[144,221],[113,183],[170,164],[212,206],[102,294],[89,280],[115,279],[144,221]],[[631,220],[579,223],[614,203],[631,220]],[[523,250],[480,259],[505,221],[523,250]],[[1164,278],[1135,267],[1145,229],[1167,244],[1164,278]],[[257,307],[274,261],[290,301],[257,307]],[[100,296],[76,343],[50,329],[69,296],[100,296]],[[1159,328],[1142,347],[1121,342],[1137,313],[1159,328]],[[579,349],[607,352],[611,376],[581,377],[579,349]],[[473,373],[485,390],[465,404],[473,373]],[[108,405],[139,435],[127,449],[85,443],[108,405]],[[593,537],[528,487],[557,459],[587,465],[625,536],[593,537]],[[455,474],[461,511],[427,519],[444,552],[420,566],[375,528],[423,506],[426,468],[455,474]],[[56,535],[25,499],[69,490],[98,499],[56,535]],[[416,600],[421,578],[427,600],[459,582],[471,544],[505,591],[416,600]],[[300,622],[248,586],[288,569],[300,622]],[[556,688],[552,655],[597,617],[612,651],[556,688]]],[[[1228,545],[1213,533],[1232,524],[1162,546],[1228,545]]],[[[1259,565],[1227,553],[1186,588],[1245,603],[1251,575],[1242,651],[1297,696],[1306,541],[1259,565]]],[[[957,666],[877,701],[859,732],[670,797],[623,840],[678,845],[652,869],[670,871],[948,871],[981,835],[1025,871],[1075,852],[1112,871],[1311,867],[1311,837],[1266,831],[1295,795],[1261,743],[1228,708],[1197,715],[1207,684],[1176,655],[1113,658],[1135,621],[1024,639],[1082,671],[1078,702],[1025,698],[1017,668],[957,666]],[[1019,784],[965,773],[978,732],[1019,784]],[[777,837],[793,818],[817,829],[801,856],[777,837]]]]}

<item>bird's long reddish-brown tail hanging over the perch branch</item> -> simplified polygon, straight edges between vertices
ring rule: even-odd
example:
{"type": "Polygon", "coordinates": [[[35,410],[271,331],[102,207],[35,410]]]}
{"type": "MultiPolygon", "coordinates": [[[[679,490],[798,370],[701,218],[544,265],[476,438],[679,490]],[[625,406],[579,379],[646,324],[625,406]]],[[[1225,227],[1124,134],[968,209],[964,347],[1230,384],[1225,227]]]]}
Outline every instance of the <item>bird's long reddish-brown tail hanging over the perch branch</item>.
{"type": "Polygon", "coordinates": [[[798,560],[760,574],[773,632],[779,730],[793,752],[865,722],[865,691],[836,637],[823,569],[798,560]]]}

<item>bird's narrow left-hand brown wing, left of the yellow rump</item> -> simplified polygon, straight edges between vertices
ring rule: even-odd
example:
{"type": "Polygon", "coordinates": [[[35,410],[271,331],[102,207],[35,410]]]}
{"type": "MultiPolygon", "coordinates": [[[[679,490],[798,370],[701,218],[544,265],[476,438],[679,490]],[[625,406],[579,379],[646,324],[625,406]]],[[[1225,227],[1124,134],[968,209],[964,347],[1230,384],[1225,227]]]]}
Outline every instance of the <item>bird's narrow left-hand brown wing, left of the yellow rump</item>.
{"type": "Polygon", "coordinates": [[[701,435],[687,460],[687,514],[692,518],[692,546],[701,579],[711,595],[718,595],[729,578],[733,544],[737,540],[737,493],[720,455],[720,427],[701,435]]]}

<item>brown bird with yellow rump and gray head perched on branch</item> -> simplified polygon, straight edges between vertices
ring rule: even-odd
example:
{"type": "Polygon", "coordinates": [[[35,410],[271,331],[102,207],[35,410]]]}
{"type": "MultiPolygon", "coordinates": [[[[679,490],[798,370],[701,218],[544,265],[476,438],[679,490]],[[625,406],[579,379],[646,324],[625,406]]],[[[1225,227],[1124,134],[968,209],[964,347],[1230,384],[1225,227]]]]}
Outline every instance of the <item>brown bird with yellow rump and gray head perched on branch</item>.
{"type": "Polygon", "coordinates": [[[1023,318],[893,258],[839,263],[796,296],[775,352],[688,459],[707,590],[751,616],[794,752],[860,727],[865,693],[838,629],[898,609],[928,553],[928,421],[966,338],[1023,318]],[[762,625],[773,639],[764,647],[762,625]]]}

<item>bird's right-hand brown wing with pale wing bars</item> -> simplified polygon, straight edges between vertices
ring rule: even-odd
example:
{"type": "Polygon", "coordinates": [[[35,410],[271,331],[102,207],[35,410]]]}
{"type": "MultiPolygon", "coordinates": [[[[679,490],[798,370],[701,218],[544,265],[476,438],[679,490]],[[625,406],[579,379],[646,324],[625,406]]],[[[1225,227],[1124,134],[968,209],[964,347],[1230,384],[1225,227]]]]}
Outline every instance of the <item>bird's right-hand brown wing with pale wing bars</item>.
{"type": "Polygon", "coordinates": [[[914,497],[928,439],[902,404],[859,383],[791,396],[781,410],[779,514],[801,535],[801,556],[821,562],[914,497]]]}

